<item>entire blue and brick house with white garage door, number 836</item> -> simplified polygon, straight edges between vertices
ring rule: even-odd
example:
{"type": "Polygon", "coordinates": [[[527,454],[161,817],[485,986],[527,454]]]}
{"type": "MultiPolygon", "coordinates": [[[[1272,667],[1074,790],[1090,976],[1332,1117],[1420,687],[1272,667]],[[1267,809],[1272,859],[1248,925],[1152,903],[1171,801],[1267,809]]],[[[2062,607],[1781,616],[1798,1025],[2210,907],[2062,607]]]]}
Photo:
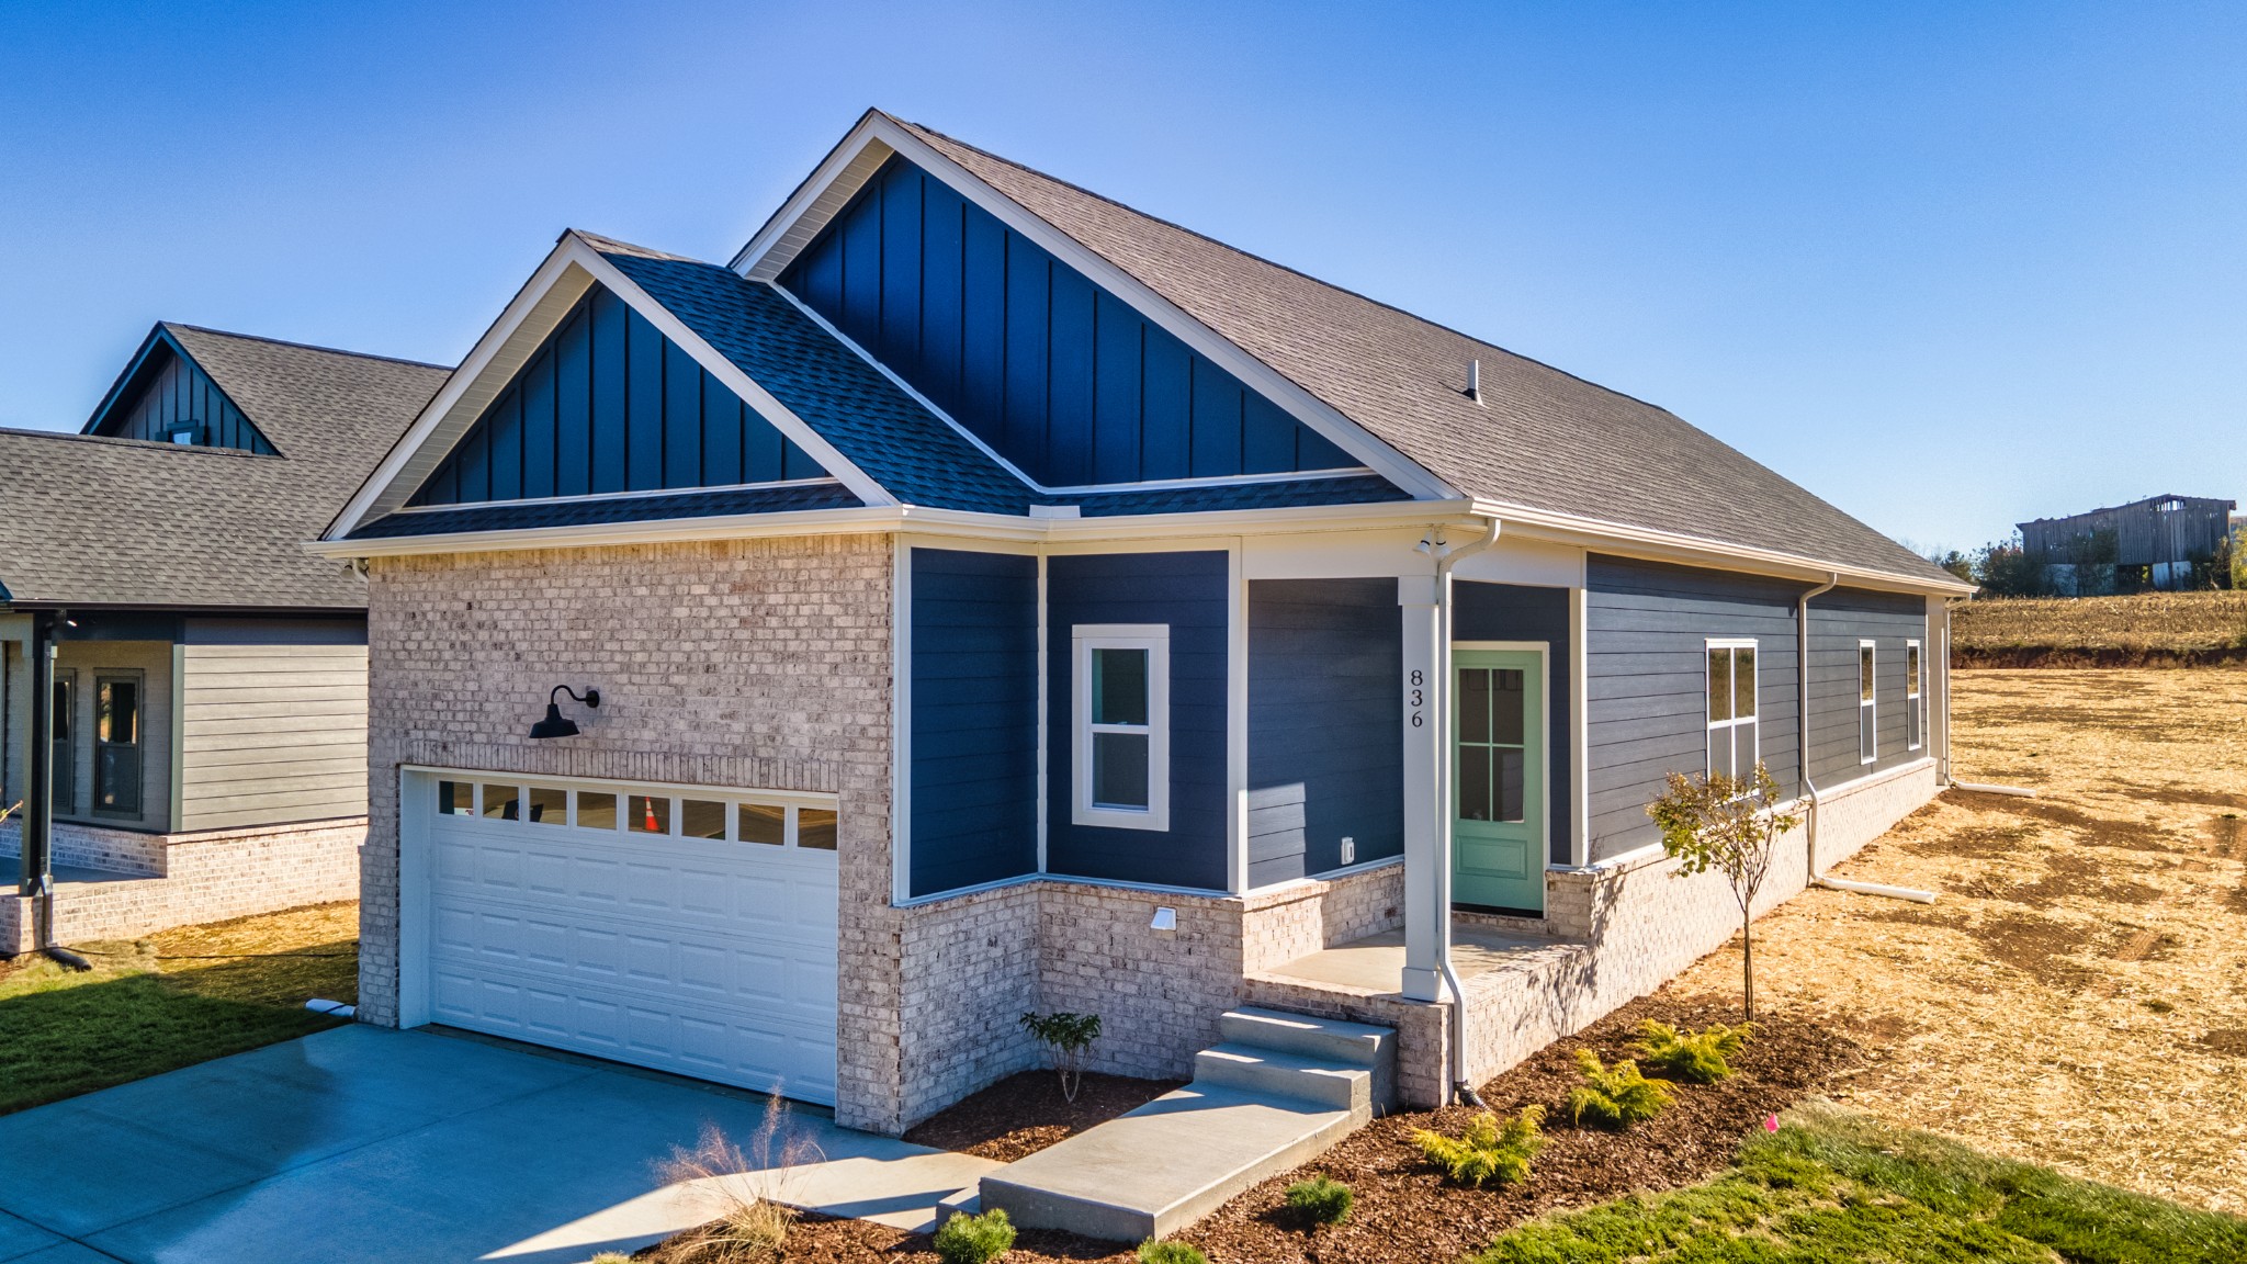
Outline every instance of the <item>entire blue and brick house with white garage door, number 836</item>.
{"type": "Polygon", "coordinates": [[[1130,1075],[1240,1001],[1362,1017],[1443,1100],[1737,929],[1663,774],[1816,785],[1827,861],[1926,803],[1971,592],[881,112],[730,265],[564,234],[317,549],[369,574],[360,1014],[883,1131],[1036,1066],[1025,1010],[1130,1075]],[[600,704],[542,738],[557,686],[600,704]],[[1526,967],[1461,963],[1447,1066],[1454,933],[1526,967]]]}

